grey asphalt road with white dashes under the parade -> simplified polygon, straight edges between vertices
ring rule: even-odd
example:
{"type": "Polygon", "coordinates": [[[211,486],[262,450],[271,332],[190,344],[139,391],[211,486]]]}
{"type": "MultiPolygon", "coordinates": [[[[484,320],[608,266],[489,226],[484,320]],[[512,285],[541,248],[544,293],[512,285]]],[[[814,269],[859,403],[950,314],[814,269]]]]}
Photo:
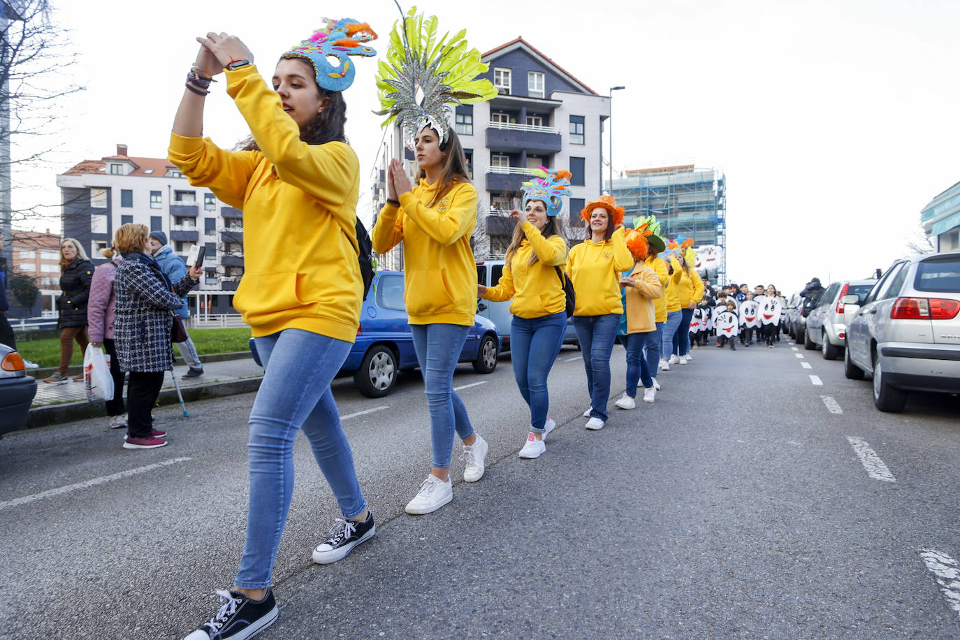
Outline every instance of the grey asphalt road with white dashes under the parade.
{"type": "MultiPolygon", "coordinates": [[[[379,400],[338,381],[377,535],[312,563],[338,513],[300,438],[259,637],[960,637],[960,400],[880,414],[869,380],[786,341],[695,350],[599,432],[564,348],[535,461],[516,457],[509,357],[462,366],[487,473],[466,485],[455,460],[453,502],[424,516],[403,512],[429,466],[420,376],[379,400]]],[[[616,389],[620,347],[612,365],[616,389]]],[[[171,444],[152,451],[102,418],[0,440],[0,636],[180,638],[209,618],[243,545],[252,399],[157,409],[171,444]]]]}

